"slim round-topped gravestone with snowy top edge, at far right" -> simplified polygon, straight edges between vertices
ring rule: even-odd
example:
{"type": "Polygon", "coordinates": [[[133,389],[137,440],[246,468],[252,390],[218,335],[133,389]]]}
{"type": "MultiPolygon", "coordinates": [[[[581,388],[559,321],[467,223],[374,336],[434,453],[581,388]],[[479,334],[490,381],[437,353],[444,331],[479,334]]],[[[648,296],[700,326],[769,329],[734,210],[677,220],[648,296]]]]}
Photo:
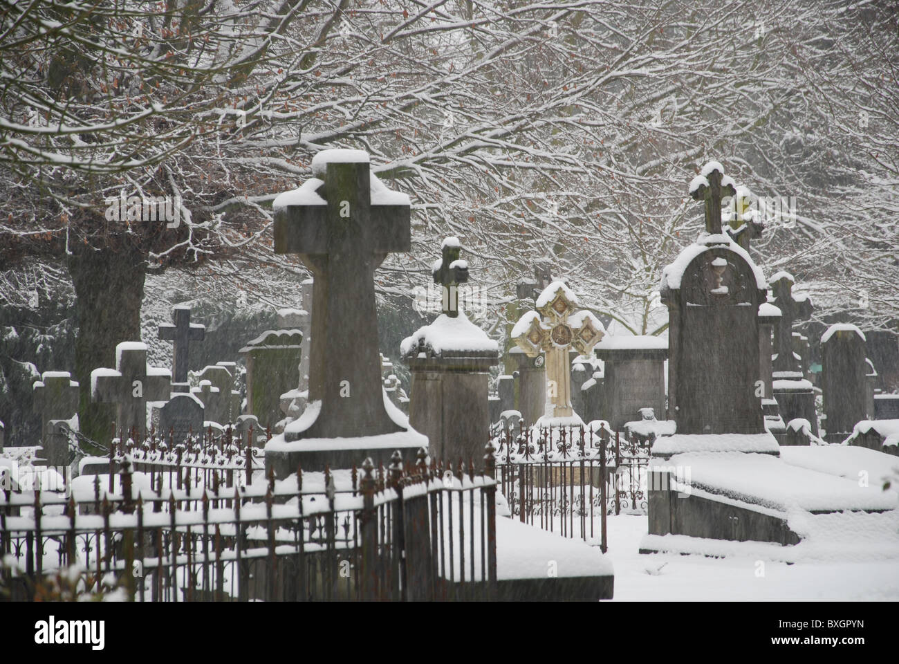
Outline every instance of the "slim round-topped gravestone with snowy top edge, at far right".
{"type": "Polygon", "coordinates": [[[841,443],[866,419],[865,335],[854,325],[832,325],[821,336],[822,389],[828,443],[841,443]]]}

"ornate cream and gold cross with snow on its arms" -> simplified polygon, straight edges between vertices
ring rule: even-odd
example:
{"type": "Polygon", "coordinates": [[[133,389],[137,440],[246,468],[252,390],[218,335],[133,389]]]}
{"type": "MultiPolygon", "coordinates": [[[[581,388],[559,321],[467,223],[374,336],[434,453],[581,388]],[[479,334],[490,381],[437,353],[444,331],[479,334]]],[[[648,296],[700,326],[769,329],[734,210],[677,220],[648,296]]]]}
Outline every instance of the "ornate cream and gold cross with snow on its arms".
{"type": "Polygon", "coordinates": [[[580,354],[592,353],[604,335],[602,324],[590,311],[574,313],[577,298],[562,282],[550,283],[529,311],[512,328],[512,339],[530,357],[547,355],[547,396],[553,417],[573,417],[571,406],[571,346],[580,354]],[[542,314],[542,319],[540,315],[542,314]]]}

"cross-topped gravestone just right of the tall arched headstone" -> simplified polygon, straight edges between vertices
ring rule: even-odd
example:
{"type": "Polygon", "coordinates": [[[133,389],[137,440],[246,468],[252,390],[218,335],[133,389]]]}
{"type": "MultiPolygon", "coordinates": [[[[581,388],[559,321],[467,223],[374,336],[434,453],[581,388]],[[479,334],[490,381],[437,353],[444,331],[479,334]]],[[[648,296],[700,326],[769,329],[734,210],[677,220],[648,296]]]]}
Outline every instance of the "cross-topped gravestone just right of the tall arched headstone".
{"type": "MultiPolygon", "coordinates": [[[[773,394],[784,422],[806,419],[812,426],[812,433],[818,435],[814,386],[806,378],[802,355],[796,352],[793,340],[793,324],[808,318],[813,306],[806,294],[793,293],[794,283],[793,275],[787,272],[773,274],[769,281],[774,294],[772,303],[780,310],[780,322],[774,326],[773,394]]],[[[800,336],[799,347],[802,347],[801,342],[800,336]]]]}

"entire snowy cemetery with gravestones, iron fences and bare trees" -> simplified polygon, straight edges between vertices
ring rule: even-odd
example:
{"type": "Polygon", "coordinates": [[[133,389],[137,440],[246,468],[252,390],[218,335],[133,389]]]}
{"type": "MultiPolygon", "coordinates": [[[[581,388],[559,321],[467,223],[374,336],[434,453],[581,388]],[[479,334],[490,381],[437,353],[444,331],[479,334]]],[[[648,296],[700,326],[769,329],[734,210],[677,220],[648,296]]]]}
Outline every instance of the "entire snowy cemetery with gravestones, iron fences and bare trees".
{"type": "MultiPolygon", "coordinates": [[[[521,7],[551,52],[509,16],[475,46],[479,4],[228,18],[241,48],[290,35],[269,72],[231,54],[225,10],[184,13],[182,44],[125,5],[102,11],[139,30],[129,76],[96,89],[128,87],[133,136],[55,103],[0,114],[22,187],[0,224],[0,599],[899,599],[895,168],[847,157],[864,173],[840,198],[819,162],[785,166],[822,118],[755,126],[708,88],[692,58],[717,30],[690,17],[687,51],[683,17],[653,25],[680,64],[650,85],[608,60],[620,35],[591,3],[521,7]],[[134,77],[141,40],[172,41],[153,76],[180,110],[134,77]],[[680,76],[699,97],[669,105],[680,76]],[[106,140],[146,161],[97,166],[106,140]]],[[[43,14],[21,11],[27,36],[43,14]]],[[[768,80],[733,58],[716,76],[768,80]]],[[[895,155],[827,94],[828,154],[895,155]]]]}

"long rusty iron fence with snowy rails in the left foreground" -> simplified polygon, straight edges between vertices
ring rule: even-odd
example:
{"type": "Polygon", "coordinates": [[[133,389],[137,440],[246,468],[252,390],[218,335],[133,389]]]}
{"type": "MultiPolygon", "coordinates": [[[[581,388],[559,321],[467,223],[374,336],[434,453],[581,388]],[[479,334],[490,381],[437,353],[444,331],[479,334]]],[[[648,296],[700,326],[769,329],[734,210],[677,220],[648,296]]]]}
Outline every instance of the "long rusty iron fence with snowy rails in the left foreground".
{"type": "Polygon", "coordinates": [[[152,602],[496,597],[489,446],[479,474],[421,450],[386,470],[367,459],[231,487],[152,485],[128,455],[113,461],[105,488],[0,492],[0,591],[48,598],[74,578],[152,602]]]}

